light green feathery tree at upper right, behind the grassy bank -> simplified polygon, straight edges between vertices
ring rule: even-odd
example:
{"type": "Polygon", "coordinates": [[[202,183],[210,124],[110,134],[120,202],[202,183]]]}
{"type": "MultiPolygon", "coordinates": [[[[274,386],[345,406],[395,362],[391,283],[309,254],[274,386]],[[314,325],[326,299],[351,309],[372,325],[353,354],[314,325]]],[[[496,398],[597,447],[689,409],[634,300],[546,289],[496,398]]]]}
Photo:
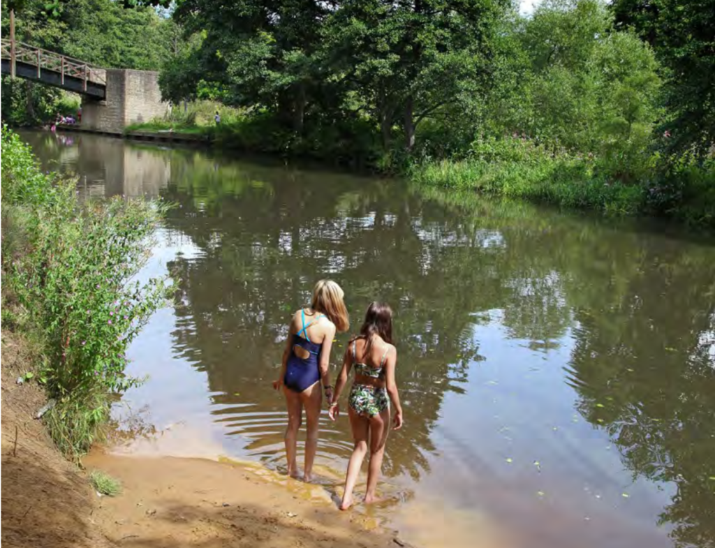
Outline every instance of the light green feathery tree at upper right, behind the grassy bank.
{"type": "Polygon", "coordinates": [[[549,0],[520,31],[516,131],[555,149],[599,154],[620,178],[648,154],[659,112],[659,66],[651,48],[616,31],[600,0],[549,0]]]}

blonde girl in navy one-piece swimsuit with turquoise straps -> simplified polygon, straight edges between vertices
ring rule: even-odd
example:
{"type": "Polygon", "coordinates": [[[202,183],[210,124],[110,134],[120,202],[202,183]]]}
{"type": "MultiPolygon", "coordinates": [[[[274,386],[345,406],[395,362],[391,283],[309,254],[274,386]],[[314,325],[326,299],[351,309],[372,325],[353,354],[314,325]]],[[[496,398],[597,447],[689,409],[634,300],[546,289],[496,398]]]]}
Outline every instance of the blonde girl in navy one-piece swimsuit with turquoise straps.
{"type": "Polygon", "coordinates": [[[330,349],[335,332],[350,327],[347,310],[342,302],[342,289],[331,280],[315,284],[310,308],[301,309],[290,322],[283,352],[280,377],[273,383],[283,389],[288,408],[288,427],[285,430],[285,452],[288,474],[298,477],[297,437],[305,407],[307,437],[305,439],[305,468],[303,479],[312,479],[312,465],[317,450],[318,418],[322,406],[322,391],[328,402],[332,399],[330,386],[330,349]]]}

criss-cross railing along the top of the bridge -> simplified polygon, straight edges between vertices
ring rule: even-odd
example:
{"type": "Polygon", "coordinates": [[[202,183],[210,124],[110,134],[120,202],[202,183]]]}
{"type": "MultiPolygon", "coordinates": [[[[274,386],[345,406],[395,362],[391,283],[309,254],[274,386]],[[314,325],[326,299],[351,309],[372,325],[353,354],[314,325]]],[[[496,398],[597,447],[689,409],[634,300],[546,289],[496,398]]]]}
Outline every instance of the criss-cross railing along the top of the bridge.
{"type": "Polygon", "coordinates": [[[36,67],[38,79],[43,70],[49,70],[60,74],[63,85],[66,76],[84,81],[84,91],[87,91],[87,82],[107,85],[107,73],[84,61],[11,39],[4,38],[0,42],[1,57],[9,59],[12,74],[15,74],[16,63],[24,63],[36,67]]]}

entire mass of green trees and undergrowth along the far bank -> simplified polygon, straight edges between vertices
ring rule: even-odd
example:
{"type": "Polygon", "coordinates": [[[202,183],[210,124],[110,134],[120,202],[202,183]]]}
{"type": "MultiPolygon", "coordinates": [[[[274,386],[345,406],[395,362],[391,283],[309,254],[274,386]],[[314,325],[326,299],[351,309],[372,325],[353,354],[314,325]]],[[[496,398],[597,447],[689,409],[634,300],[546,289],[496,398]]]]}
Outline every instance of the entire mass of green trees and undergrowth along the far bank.
{"type": "Polygon", "coordinates": [[[715,0],[543,0],[528,16],[511,0],[107,2],[53,16],[28,0],[21,32],[159,69],[175,107],[144,129],[715,226],[715,0]],[[72,40],[92,10],[127,38],[72,40]],[[139,22],[151,51],[132,39],[139,22]]]}

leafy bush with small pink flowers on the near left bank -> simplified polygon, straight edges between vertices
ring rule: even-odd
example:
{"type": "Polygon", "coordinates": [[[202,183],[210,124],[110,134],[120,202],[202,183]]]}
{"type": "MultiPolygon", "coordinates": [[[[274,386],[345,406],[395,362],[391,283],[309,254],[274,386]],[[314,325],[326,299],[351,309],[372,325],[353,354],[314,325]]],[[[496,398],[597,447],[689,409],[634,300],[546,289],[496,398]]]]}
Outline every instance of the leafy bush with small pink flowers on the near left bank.
{"type": "Polygon", "coordinates": [[[79,457],[102,435],[112,394],[139,382],[124,374],[125,351],[167,289],[164,279],[130,280],[164,209],[81,201],[76,181],[42,172],[6,128],[2,181],[3,292],[41,349],[29,378],[49,398],[46,427],[62,452],[79,457]]]}

